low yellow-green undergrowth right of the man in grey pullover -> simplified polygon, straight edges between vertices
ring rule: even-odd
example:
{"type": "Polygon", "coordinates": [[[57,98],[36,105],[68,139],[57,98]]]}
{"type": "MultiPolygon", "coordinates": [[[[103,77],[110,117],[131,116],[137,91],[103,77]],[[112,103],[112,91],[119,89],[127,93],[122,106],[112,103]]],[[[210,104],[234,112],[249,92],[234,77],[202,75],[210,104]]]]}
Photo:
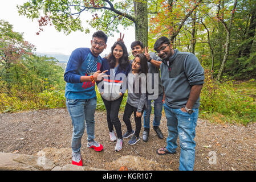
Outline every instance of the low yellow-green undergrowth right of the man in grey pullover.
{"type": "Polygon", "coordinates": [[[200,116],[214,121],[218,119],[227,122],[242,123],[256,121],[256,100],[237,92],[233,81],[222,83],[211,78],[209,71],[205,72],[205,84],[201,92],[200,116]],[[209,117],[212,115],[212,118],[209,117]],[[225,117],[224,117],[225,115],[225,117]]]}

